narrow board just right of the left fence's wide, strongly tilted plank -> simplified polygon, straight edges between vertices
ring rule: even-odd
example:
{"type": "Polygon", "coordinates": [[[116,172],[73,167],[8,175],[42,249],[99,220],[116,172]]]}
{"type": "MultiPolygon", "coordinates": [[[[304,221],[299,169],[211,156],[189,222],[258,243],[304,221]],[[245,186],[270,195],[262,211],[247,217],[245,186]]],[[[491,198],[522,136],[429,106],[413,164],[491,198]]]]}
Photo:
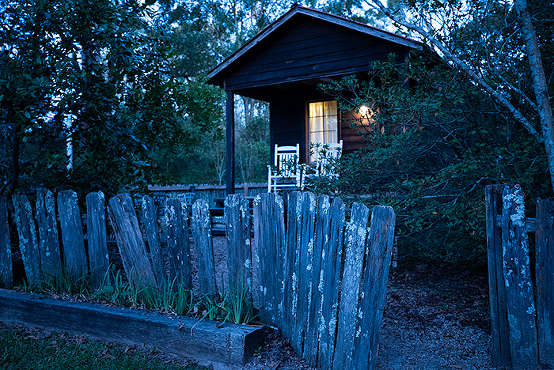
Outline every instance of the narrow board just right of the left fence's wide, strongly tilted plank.
{"type": "Polygon", "coordinates": [[[165,276],[164,259],[160,245],[158,214],[154,199],[149,195],[142,197],[141,208],[142,224],[144,225],[150,260],[152,261],[152,271],[158,284],[163,284],[167,281],[167,278],[165,276]]]}

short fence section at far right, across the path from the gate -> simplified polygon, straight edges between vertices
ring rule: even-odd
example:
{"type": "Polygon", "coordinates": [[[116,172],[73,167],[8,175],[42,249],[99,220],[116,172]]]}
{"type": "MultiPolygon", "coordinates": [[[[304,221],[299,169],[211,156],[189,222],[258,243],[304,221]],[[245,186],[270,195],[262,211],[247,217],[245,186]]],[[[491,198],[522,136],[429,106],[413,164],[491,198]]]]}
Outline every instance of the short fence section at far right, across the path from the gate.
{"type": "Polygon", "coordinates": [[[519,185],[487,186],[485,198],[493,363],[553,366],[554,204],[539,200],[532,219],[519,185]]]}

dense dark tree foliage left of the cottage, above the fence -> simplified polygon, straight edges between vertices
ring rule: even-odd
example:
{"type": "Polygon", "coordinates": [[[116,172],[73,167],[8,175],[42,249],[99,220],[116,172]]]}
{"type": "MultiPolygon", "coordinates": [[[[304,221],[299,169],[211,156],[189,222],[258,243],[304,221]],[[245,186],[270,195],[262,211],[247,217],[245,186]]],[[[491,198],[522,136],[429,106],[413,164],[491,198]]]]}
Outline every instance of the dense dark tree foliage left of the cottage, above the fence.
{"type": "Polygon", "coordinates": [[[173,34],[148,22],[143,2],[4,1],[1,11],[0,192],[138,190],[160,152],[190,152],[219,129],[221,93],[177,73],[173,34]]]}

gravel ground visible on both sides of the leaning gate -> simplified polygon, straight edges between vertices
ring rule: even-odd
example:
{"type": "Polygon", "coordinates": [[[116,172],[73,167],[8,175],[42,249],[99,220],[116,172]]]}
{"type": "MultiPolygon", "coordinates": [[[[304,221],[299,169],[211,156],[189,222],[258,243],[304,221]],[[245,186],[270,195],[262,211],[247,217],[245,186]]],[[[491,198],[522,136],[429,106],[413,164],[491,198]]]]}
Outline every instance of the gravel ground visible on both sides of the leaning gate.
{"type": "MultiPolygon", "coordinates": [[[[391,273],[377,369],[496,369],[491,363],[487,279],[448,266],[391,273]]],[[[271,336],[246,369],[309,369],[271,336]]]]}

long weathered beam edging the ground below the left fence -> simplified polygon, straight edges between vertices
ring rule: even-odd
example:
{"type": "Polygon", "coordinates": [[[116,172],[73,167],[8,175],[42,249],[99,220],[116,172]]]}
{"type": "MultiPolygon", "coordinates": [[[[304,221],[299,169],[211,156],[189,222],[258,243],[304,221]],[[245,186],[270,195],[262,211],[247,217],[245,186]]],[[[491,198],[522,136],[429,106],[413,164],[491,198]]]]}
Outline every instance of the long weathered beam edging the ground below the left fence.
{"type": "Polygon", "coordinates": [[[214,369],[240,369],[262,345],[261,325],[165,316],[0,289],[0,321],[156,347],[214,369]]]}

